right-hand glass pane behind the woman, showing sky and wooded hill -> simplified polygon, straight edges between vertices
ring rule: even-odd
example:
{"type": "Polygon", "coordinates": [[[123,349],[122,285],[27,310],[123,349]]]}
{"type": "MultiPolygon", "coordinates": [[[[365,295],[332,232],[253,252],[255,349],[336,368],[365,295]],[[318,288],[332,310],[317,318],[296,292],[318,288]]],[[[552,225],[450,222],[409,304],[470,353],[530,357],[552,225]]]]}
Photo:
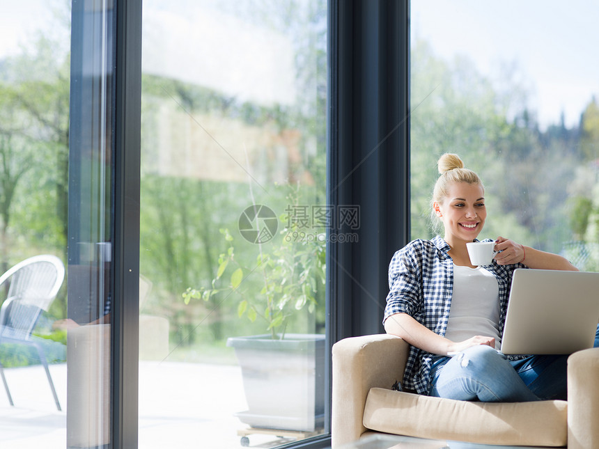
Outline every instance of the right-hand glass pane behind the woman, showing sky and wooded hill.
{"type": "Polygon", "coordinates": [[[599,269],[599,66],[588,58],[598,8],[412,1],[413,238],[433,235],[436,162],[455,152],[485,184],[479,238],[501,235],[599,269]]]}

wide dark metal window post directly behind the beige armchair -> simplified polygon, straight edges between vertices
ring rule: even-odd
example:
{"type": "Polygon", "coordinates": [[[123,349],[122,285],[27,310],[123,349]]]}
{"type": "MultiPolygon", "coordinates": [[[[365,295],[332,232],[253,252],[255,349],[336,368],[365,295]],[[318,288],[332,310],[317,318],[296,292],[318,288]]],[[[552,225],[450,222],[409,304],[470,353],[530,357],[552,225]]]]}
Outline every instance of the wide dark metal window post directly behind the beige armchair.
{"type": "Polygon", "coordinates": [[[387,269],[410,229],[409,1],[329,2],[328,201],[359,205],[329,244],[332,340],[382,331],[387,269]]]}

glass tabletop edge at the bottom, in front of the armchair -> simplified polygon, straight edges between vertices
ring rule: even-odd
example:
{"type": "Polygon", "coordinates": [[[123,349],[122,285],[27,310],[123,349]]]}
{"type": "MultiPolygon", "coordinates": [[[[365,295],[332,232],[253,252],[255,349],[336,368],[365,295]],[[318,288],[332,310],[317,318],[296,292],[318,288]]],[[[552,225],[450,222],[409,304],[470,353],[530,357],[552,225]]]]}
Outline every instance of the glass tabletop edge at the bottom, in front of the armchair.
{"type": "MultiPolygon", "coordinates": [[[[526,446],[528,449],[547,449],[526,446]]],[[[496,446],[461,441],[429,440],[400,435],[371,435],[341,449],[524,449],[523,446],[496,446]]]]}

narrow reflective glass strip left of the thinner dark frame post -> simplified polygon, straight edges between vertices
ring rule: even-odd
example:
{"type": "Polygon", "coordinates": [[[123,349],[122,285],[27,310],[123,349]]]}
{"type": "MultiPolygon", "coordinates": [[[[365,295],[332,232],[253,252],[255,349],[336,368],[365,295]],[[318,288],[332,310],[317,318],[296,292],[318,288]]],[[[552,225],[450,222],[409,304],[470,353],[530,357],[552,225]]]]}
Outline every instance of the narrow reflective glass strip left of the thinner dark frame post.
{"type": "Polygon", "coordinates": [[[68,448],[111,447],[112,6],[72,5],[68,448]]]}

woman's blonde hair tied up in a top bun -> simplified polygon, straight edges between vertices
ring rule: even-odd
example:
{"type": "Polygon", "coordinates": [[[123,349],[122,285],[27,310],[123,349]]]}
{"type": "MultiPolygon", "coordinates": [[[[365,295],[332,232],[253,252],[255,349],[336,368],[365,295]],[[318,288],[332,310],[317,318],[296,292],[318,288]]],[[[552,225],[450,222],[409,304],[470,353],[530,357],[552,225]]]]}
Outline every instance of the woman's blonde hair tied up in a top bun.
{"type": "Polygon", "coordinates": [[[435,203],[443,203],[451,184],[455,184],[456,182],[479,184],[483,188],[483,191],[485,190],[485,186],[483,186],[483,182],[481,181],[481,178],[479,178],[479,175],[468,168],[464,168],[464,162],[462,162],[462,159],[460,159],[458,155],[454,155],[453,153],[445,153],[439,157],[439,160],[437,161],[437,168],[441,175],[437,179],[437,182],[435,182],[433,199],[430,202],[430,216],[433,230],[435,230],[435,232],[438,232],[438,230],[441,229],[442,222],[437,214],[435,214],[433,205],[435,203]]]}

